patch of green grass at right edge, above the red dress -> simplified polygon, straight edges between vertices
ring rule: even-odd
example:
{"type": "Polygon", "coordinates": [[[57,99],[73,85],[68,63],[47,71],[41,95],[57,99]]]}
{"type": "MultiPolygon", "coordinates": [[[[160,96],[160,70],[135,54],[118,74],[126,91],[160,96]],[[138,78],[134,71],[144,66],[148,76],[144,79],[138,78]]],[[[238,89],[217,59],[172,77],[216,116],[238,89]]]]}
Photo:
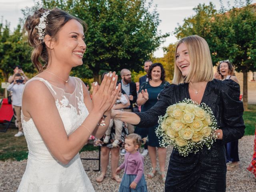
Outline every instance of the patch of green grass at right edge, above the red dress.
{"type": "Polygon", "coordinates": [[[244,135],[254,135],[256,125],[256,105],[248,105],[248,111],[244,112],[243,118],[246,126],[244,135]]]}

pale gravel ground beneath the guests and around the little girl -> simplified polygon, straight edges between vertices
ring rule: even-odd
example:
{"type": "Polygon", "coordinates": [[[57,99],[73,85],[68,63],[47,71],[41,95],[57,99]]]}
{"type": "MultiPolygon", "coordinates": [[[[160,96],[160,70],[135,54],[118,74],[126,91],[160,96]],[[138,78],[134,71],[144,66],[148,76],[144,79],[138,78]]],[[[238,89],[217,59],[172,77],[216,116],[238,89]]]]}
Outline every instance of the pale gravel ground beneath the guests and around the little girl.
{"type": "MultiPolygon", "coordinates": [[[[246,170],[249,165],[252,152],[253,152],[254,136],[244,136],[239,140],[239,156],[240,167],[233,171],[227,172],[227,188],[226,192],[255,192],[256,179],[253,174],[246,170]]],[[[168,148],[167,159],[169,159],[171,148],[168,148]]],[[[97,157],[98,152],[83,152],[81,157],[97,157]]],[[[124,157],[120,158],[120,163],[123,162],[124,157]]],[[[84,168],[97,169],[98,162],[96,161],[83,161],[84,168]]],[[[168,160],[166,160],[166,169],[168,160]]],[[[150,170],[149,156],[145,157],[144,162],[145,173],[150,170]]],[[[0,192],[15,192],[18,188],[22,174],[26,168],[26,160],[23,161],[6,161],[0,162],[0,192]]],[[[123,173],[123,172],[122,172],[123,173]]],[[[118,191],[119,184],[110,178],[110,166],[108,166],[108,174],[104,182],[97,183],[95,178],[100,174],[99,172],[87,171],[87,174],[94,186],[96,192],[115,192],[118,191]]],[[[145,174],[146,175],[146,174],[145,174]]],[[[146,177],[145,177],[146,178],[146,177]]],[[[149,192],[163,192],[164,184],[158,174],[153,179],[146,178],[149,192]]]]}

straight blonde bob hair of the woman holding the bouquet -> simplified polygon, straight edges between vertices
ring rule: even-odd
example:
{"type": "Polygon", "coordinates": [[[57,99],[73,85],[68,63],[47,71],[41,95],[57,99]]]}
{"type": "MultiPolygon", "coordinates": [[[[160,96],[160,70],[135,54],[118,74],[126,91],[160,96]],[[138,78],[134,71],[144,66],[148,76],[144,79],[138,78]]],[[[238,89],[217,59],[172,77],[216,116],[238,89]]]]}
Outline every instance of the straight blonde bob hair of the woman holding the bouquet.
{"type": "Polygon", "coordinates": [[[213,80],[213,67],[209,46],[204,38],[192,35],[180,40],[176,46],[174,55],[174,77],[173,84],[193,82],[208,82],[213,80]],[[187,46],[190,58],[190,69],[184,77],[176,65],[176,53],[180,44],[187,46]]]}

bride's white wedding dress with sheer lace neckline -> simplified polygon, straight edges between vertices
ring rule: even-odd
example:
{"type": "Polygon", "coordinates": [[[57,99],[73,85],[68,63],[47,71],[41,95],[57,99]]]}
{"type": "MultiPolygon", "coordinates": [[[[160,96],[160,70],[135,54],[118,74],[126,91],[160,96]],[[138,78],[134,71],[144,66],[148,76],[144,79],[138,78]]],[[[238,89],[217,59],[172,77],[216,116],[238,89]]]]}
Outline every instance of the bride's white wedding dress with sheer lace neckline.
{"type": "MultiPolygon", "coordinates": [[[[70,78],[76,81],[72,94],[65,93],[42,78],[30,80],[40,80],[49,88],[68,135],[82,124],[89,113],[84,104],[83,82],[79,78],[70,78]]],[[[18,192],[94,192],[79,154],[64,165],[52,156],[32,118],[22,114],[22,127],[28,144],[28,161],[18,192]]]]}

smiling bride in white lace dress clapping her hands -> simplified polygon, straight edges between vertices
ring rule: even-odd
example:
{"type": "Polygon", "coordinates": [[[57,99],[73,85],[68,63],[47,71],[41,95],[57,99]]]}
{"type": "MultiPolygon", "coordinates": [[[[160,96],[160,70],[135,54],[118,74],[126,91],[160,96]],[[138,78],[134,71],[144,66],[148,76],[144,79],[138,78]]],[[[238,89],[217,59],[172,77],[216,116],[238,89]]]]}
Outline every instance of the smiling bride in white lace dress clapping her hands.
{"type": "Polygon", "coordinates": [[[26,20],[39,74],[23,92],[22,126],[29,152],[18,192],[94,192],[79,151],[91,134],[101,138],[108,128],[120,85],[115,72],[108,73],[100,86],[94,83],[91,101],[84,83],[69,76],[72,67],[83,63],[83,25],[59,9],[41,8],[26,20]]]}

